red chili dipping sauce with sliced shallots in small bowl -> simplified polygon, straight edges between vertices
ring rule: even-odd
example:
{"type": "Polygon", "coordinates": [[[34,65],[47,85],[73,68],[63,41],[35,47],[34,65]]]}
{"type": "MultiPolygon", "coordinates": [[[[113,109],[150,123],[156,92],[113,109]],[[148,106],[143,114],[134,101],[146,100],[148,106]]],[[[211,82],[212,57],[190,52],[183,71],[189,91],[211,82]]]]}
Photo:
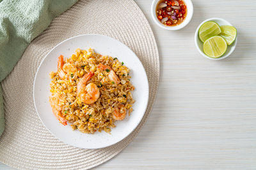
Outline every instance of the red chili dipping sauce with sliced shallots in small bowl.
{"type": "Polygon", "coordinates": [[[157,19],[166,26],[181,24],[187,15],[187,6],[184,1],[159,1],[156,6],[157,19]]]}

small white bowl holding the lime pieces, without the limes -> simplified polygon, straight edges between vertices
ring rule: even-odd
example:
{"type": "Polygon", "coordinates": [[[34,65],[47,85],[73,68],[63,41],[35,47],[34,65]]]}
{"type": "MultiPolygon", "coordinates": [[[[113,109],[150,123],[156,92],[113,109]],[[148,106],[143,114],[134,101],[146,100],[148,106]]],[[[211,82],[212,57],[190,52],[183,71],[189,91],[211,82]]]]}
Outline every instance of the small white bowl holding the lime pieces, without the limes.
{"type": "MultiPolygon", "coordinates": [[[[204,53],[204,43],[202,43],[202,41],[200,41],[199,37],[198,37],[198,31],[200,29],[200,27],[207,21],[214,21],[219,25],[231,25],[229,22],[227,22],[227,20],[224,20],[222,18],[209,18],[207,20],[204,20],[196,29],[195,32],[195,44],[196,44],[196,48],[198,50],[198,52],[200,52],[204,57],[206,57],[207,59],[212,59],[212,60],[221,60],[221,59],[225,59],[226,57],[228,57],[232,52],[234,52],[235,48],[236,48],[236,43],[237,43],[237,37],[236,40],[234,41],[234,43],[232,43],[232,45],[228,45],[227,51],[224,53],[224,55],[222,55],[219,58],[212,58],[209,57],[207,55],[205,55],[204,53]]],[[[231,25],[232,26],[232,25],[231,25]]]]}

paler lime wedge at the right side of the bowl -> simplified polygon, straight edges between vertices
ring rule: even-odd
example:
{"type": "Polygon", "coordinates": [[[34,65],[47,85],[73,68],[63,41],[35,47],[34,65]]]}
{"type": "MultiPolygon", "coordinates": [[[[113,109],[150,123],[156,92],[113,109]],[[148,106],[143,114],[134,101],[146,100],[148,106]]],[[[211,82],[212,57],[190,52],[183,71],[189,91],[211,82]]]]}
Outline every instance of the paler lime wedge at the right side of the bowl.
{"type": "Polygon", "coordinates": [[[236,28],[230,25],[221,25],[220,26],[222,36],[227,41],[227,45],[232,45],[236,39],[236,28]]]}

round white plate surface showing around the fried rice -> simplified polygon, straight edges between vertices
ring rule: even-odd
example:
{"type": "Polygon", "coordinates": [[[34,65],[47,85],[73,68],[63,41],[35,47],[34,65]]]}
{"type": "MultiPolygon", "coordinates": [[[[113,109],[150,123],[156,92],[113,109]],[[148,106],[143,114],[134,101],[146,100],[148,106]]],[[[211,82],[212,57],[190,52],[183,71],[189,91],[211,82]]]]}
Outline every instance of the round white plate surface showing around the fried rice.
{"type": "Polygon", "coordinates": [[[86,34],[69,38],[55,46],[41,62],[36,72],[34,81],[34,102],[36,112],[41,121],[58,139],[68,145],[79,148],[104,148],[114,145],[128,136],[140,124],[148,104],[148,80],[147,74],[140,60],[134,52],[116,39],[97,34],[86,34]],[[84,134],[72,131],[70,125],[62,125],[54,117],[49,103],[50,83],[49,73],[57,71],[57,59],[59,55],[70,57],[76,48],[93,48],[95,52],[102,55],[117,57],[120,62],[131,69],[131,82],[135,90],[132,96],[135,103],[132,106],[131,116],[115,123],[116,127],[111,129],[111,134],[106,132],[95,132],[95,134],[84,134]]]}

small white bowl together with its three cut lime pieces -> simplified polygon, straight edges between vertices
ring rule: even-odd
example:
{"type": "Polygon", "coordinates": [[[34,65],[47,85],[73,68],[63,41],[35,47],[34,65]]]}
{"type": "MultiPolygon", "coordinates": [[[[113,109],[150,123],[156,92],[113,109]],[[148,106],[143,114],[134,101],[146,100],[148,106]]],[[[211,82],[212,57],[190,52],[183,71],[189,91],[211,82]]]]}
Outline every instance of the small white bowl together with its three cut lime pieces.
{"type": "Polygon", "coordinates": [[[205,20],[195,32],[196,48],[208,59],[225,59],[234,52],[236,43],[236,28],[222,18],[205,20]]]}

